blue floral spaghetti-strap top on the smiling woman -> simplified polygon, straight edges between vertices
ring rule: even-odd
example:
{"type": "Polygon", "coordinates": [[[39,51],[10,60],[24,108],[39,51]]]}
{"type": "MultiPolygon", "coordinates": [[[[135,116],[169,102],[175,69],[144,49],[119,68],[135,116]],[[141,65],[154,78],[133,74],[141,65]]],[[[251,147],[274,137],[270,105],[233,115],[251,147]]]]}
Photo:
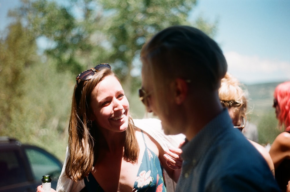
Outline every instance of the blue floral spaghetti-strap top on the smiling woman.
{"type": "MultiPolygon", "coordinates": [[[[143,131],[141,130],[141,132],[145,151],[132,192],[164,192],[166,188],[163,179],[163,168],[159,158],[147,147],[143,131]]],[[[89,173],[88,180],[84,179],[87,191],[104,192],[92,173],[89,173]]]]}

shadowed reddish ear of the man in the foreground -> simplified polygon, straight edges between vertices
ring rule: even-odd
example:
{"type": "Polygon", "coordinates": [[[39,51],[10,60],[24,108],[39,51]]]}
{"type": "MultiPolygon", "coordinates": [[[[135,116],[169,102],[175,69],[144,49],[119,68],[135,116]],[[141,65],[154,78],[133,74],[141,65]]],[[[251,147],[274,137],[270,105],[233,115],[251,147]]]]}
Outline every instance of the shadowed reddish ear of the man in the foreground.
{"type": "Polygon", "coordinates": [[[181,104],[188,94],[188,83],[182,78],[175,79],[175,102],[181,104]]]}

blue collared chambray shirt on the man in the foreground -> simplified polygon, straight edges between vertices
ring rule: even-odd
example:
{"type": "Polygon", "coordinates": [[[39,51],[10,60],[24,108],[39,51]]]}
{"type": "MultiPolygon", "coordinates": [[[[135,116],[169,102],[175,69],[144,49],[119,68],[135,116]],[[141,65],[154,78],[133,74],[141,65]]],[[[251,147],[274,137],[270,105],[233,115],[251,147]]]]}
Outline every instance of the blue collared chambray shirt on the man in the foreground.
{"type": "Polygon", "coordinates": [[[182,147],[176,192],[280,191],[267,162],[238,130],[227,109],[182,147]]]}

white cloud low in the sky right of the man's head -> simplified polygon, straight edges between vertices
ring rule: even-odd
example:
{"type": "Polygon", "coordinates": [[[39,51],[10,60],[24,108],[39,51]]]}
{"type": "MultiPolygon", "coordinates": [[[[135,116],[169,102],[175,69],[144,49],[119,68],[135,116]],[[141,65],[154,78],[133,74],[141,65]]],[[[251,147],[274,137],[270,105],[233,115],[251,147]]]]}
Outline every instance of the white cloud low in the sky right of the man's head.
{"type": "Polygon", "coordinates": [[[225,52],[228,72],[242,83],[269,83],[290,80],[290,62],[225,52]]]}

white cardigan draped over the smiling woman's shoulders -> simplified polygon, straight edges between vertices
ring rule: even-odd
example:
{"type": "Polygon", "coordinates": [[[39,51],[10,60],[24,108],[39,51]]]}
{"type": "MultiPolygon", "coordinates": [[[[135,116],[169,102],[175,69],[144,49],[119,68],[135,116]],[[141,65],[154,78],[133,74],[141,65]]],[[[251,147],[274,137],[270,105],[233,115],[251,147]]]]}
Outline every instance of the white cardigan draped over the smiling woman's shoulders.
{"type": "MultiPolygon", "coordinates": [[[[134,119],[133,122],[136,127],[139,127],[152,138],[154,138],[164,150],[168,150],[168,148],[171,147],[178,147],[180,142],[185,139],[185,136],[183,134],[174,136],[165,135],[162,130],[161,121],[158,119],[134,119]]],[[[85,187],[84,179],[78,182],[74,182],[66,176],[65,168],[68,157],[69,153],[67,147],[64,165],[62,167],[61,174],[57,182],[57,192],[79,192],[85,187]]],[[[164,171],[164,180],[166,182],[166,191],[174,192],[176,183],[168,176],[166,171],[164,171]]]]}

